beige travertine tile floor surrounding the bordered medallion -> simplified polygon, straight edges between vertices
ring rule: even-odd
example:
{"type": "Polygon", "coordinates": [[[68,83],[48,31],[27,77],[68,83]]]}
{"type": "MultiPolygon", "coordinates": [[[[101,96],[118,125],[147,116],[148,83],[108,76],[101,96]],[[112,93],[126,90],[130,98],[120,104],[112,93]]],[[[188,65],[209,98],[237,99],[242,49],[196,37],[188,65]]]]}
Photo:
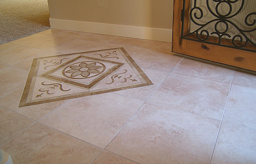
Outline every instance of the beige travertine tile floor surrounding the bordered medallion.
{"type": "Polygon", "coordinates": [[[0,146],[18,163],[256,163],[256,74],[171,43],[50,29],[0,45],[0,146]],[[154,85],[18,108],[34,58],[123,47],[154,85]]]}

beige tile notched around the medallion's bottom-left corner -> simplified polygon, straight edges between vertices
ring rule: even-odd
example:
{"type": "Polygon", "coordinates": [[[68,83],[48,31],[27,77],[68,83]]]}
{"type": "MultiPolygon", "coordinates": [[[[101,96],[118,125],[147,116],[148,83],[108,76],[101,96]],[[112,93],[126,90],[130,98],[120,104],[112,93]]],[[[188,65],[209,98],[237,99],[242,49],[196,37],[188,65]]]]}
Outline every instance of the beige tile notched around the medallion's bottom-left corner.
{"type": "Polygon", "coordinates": [[[18,108],[22,92],[23,92],[23,87],[3,97],[0,97],[0,105],[12,111],[18,112],[24,116],[27,116],[31,119],[39,120],[42,117],[44,117],[46,114],[50,113],[55,108],[57,108],[58,106],[60,106],[62,103],[65,102],[65,101],[57,101],[57,102],[31,105],[31,106],[18,108]]]}

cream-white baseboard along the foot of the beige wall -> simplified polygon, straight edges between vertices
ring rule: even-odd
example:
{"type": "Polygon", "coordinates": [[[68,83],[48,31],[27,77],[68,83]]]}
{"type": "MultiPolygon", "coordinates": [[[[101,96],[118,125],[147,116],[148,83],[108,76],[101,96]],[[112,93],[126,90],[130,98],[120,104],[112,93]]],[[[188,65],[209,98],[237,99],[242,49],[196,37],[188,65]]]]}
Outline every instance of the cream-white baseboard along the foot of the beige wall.
{"type": "Polygon", "coordinates": [[[172,29],[51,19],[51,28],[172,42],[172,29]]]}

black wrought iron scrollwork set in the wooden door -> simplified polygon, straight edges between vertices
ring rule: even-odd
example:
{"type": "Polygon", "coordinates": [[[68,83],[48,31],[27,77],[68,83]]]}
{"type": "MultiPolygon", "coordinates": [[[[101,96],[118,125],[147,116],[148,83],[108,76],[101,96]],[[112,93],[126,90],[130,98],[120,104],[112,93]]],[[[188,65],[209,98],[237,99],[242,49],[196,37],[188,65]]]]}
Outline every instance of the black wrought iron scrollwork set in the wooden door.
{"type": "MultiPolygon", "coordinates": [[[[183,5],[185,6],[186,0],[183,0],[183,5]]],[[[256,12],[252,12],[246,15],[244,18],[244,24],[236,24],[234,17],[236,17],[241,11],[244,9],[245,0],[206,0],[205,8],[199,7],[197,5],[197,0],[194,0],[194,4],[191,6],[190,10],[190,23],[194,23],[196,25],[196,29],[190,31],[188,34],[183,35],[184,22],[182,23],[182,38],[195,40],[198,42],[210,43],[215,45],[221,45],[226,47],[239,48],[246,51],[256,52],[256,44],[255,44],[255,32],[256,32],[256,12]],[[210,1],[215,5],[215,8],[210,5],[210,1]],[[226,5],[227,10],[221,10],[220,6],[226,5]],[[234,5],[239,5],[235,7],[234,5]],[[206,19],[204,18],[205,14],[204,10],[211,15],[211,20],[204,22],[206,19]],[[212,17],[213,16],[213,17],[212,17]],[[204,21],[202,21],[204,20],[204,21]],[[208,30],[207,27],[212,26],[212,30],[208,30]],[[221,27],[221,28],[220,28],[221,27]],[[230,34],[230,28],[236,29],[237,34],[230,34]],[[195,37],[190,37],[191,35],[195,35],[195,37]],[[209,38],[211,36],[218,37],[218,43],[210,42],[209,38]],[[249,38],[249,36],[253,36],[255,40],[249,38]],[[231,44],[223,44],[221,41],[225,39],[230,39],[231,44]],[[248,44],[251,44],[251,47],[254,48],[245,48],[248,44]]],[[[183,9],[184,10],[184,9],[183,9]]],[[[208,17],[209,18],[209,17],[208,17]]],[[[184,20],[182,20],[184,21],[184,20]]],[[[239,22],[240,23],[240,22],[239,22]]]]}

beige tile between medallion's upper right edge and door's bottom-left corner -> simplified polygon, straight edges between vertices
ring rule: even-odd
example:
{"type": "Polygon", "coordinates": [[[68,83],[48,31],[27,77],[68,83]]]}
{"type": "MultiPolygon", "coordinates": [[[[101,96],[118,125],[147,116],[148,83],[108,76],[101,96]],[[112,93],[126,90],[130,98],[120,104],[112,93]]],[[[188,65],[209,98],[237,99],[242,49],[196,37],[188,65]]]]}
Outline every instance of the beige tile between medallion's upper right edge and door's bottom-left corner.
{"type": "Polygon", "coordinates": [[[142,49],[135,55],[131,56],[139,67],[163,72],[171,72],[183,58],[183,55],[163,53],[148,49],[142,49]]]}

